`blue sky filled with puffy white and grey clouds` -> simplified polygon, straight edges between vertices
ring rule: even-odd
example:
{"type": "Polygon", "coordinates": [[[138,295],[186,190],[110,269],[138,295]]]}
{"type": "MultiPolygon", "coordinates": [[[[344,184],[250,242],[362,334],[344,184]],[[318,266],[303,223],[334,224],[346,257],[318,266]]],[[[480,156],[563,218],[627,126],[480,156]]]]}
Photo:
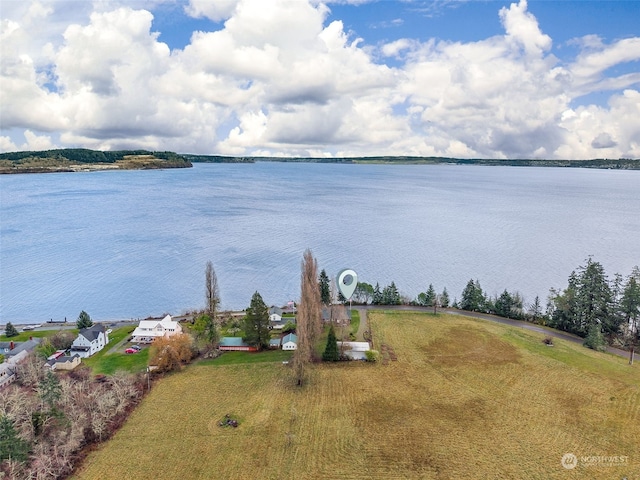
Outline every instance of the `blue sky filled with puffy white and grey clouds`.
{"type": "Polygon", "coordinates": [[[0,0],[0,152],[640,158],[640,1],[0,0]]]}

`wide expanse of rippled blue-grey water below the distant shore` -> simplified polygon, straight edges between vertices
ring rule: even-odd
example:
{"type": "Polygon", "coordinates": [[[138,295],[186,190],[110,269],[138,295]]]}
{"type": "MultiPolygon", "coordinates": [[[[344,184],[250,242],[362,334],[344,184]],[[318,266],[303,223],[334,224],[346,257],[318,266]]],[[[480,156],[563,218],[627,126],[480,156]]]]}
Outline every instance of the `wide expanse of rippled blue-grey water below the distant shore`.
{"type": "Polygon", "coordinates": [[[479,166],[196,164],[0,176],[0,323],[179,314],[297,299],[303,252],[334,276],[451,299],[470,278],[525,301],[592,255],[640,264],[640,171],[479,166]]]}

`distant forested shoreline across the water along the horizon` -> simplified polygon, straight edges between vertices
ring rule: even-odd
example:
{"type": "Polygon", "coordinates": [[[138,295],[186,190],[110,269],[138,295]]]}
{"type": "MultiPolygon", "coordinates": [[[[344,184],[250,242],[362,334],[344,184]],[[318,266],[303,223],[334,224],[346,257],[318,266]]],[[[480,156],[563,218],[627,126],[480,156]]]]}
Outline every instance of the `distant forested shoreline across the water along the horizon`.
{"type": "Polygon", "coordinates": [[[509,167],[594,168],[640,170],[640,159],[595,158],[590,160],[487,159],[419,156],[367,157],[263,157],[197,155],[147,150],[99,151],[59,149],[39,152],[0,153],[0,174],[93,172],[189,168],[193,163],[330,163],[351,165],[479,165],[509,167]]]}

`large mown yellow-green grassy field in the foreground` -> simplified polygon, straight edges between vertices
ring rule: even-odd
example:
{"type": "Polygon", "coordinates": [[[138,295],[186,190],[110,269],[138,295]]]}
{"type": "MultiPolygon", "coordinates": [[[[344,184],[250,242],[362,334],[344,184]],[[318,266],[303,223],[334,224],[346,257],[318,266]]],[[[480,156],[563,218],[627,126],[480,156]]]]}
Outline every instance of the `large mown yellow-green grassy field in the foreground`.
{"type": "Polygon", "coordinates": [[[74,478],[640,477],[638,365],[458,316],[368,321],[395,361],[316,365],[303,388],[280,358],[193,365],[158,382],[74,478]],[[240,426],[218,426],[225,414],[240,426]]]}

